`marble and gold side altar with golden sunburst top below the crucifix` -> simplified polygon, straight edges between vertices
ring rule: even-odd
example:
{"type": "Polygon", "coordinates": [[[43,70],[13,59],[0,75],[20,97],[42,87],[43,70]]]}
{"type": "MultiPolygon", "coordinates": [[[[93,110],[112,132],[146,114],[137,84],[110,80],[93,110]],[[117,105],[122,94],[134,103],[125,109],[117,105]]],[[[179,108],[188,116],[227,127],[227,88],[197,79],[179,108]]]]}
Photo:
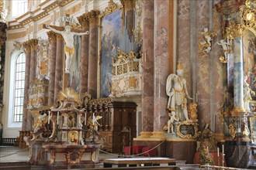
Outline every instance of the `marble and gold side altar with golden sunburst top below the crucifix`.
{"type": "Polygon", "coordinates": [[[103,146],[94,140],[85,142],[88,129],[83,128],[86,117],[78,93],[66,88],[58,94],[57,104],[48,110],[33,110],[33,114],[32,138],[24,139],[31,164],[95,168],[103,146]]]}

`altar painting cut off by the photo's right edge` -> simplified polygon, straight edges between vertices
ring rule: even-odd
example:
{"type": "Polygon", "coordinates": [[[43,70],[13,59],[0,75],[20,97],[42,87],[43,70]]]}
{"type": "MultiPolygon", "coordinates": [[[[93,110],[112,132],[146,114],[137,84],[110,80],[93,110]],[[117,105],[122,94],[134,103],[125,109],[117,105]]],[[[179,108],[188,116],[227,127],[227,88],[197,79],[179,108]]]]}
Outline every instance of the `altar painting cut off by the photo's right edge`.
{"type": "MultiPolygon", "coordinates": [[[[250,30],[244,31],[243,48],[244,48],[244,76],[251,90],[256,91],[256,37],[250,30]],[[246,77],[247,76],[247,77],[246,77]]],[[[255,95],[251,95],[252,100],[256,100],[255,95]]]]}

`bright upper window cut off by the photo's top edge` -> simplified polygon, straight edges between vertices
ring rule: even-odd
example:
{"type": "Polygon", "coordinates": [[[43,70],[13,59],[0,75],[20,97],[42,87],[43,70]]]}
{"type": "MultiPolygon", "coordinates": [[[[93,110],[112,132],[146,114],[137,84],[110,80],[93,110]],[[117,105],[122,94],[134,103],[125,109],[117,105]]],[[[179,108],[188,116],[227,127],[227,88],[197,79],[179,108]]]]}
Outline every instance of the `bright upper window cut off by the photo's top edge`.
{"type": "Polygon", "coordinates": [[[23,15],[28,10],[28,0],[12,0],[12,16],[23,15]]]}

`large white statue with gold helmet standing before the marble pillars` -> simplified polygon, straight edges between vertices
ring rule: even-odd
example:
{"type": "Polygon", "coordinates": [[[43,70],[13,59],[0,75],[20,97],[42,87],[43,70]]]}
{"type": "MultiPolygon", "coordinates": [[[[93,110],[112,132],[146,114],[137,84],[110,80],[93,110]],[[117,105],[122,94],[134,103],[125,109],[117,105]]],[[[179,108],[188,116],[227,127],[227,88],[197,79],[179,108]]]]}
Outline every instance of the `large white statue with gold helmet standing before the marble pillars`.
{"type": "Polygon", "coordinates": [[[191,121],[187,110],[187,99],[192,100],[192,97],[189,97],[183,71],[182,65],[178,63],[177,75],[170,74],[168,76],[166,83],[166,93],[169,97],[167,107],[172,115],[178,116],[179,121],[191,121]]]}

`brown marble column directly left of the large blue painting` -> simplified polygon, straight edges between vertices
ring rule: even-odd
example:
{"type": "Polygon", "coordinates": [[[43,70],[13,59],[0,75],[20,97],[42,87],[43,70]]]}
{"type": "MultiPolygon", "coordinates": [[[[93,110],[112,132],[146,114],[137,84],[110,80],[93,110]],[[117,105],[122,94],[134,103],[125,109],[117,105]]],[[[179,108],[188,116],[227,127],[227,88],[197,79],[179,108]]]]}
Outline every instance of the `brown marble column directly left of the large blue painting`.
{"type": "Polygon", "coordinates": [[[88,12],[89,18],[89,57],[88,57],[88,93],[97,98],[97,71],[98,71],[98,37],[99,11],[88,12]]]}

